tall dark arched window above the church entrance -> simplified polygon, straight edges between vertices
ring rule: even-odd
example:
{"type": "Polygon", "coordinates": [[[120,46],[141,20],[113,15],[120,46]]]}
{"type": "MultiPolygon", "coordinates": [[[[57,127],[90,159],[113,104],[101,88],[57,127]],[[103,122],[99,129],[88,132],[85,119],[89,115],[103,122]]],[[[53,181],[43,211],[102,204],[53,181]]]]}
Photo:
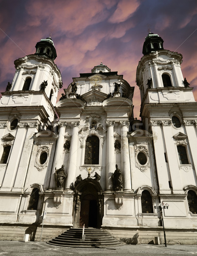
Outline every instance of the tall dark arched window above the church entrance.
{"type": "Polygon", "coordinates": [[[87,137],[84,164],[99,164],[99,139],[95,135],[87,137]]]}

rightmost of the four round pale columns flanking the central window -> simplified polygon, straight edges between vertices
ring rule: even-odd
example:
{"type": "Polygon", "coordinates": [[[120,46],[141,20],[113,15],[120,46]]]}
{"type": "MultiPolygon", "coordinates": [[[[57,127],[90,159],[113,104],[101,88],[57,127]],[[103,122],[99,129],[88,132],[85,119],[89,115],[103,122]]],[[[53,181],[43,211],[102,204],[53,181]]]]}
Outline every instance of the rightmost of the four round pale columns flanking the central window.
{"type": "Polygon", "coordinates": [[[121,121],[121,169],[123,173],[123,189],[124,191],[131,191],[131,173],[129,160],[129,142],[127,138],[127,131],[129,121],[121,121]]]}

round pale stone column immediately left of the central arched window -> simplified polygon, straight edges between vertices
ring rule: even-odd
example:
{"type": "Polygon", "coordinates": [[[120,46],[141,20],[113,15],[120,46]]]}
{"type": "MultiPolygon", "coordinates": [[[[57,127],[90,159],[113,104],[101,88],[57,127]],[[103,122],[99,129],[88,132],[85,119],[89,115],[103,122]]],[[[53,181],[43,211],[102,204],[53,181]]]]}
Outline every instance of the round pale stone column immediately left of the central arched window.
{"type": "Polygon", "coordinates": [[[68,171],[66,179],[66,189],[70,189],[76,178],[76,161],[79,138],[79,122],[71,122],[73,125],[72,138],[70,143],[70,154],[68,160],[68,171]]]}

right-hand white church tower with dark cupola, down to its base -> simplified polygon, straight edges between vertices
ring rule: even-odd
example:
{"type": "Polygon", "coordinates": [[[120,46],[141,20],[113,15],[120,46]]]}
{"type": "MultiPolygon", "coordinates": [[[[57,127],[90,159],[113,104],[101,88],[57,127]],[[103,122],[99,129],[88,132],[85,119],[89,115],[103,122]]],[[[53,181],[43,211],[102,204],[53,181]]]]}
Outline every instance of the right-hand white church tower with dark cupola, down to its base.
{"type": "Polygon", "coordinates": [[[173,227],[191,218],[185,201],[192,186],[197,192],[197,102],[183,79],[181,54],[164,49],[163,39],[153,33],[145,38],[143,54],[136,73],[141,118],[153,135],[160,201],[171,205],[165,225],[173,227]],[[172,215],[179,220],[173,222],[172,215]]]}

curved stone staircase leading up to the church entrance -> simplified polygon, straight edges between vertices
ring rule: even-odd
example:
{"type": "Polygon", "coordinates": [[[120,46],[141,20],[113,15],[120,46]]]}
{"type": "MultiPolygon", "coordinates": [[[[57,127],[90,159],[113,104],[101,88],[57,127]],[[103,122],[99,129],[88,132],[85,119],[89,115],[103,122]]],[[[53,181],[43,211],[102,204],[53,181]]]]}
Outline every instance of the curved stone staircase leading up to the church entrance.
{"type": "Polygon", "coordinates": [[[66,247],[115,247],[124,245],[102,229],[85,228],[85,239],[82,239],[82,231],[82,228],[70,228],[47,243],[66,247]]]}

